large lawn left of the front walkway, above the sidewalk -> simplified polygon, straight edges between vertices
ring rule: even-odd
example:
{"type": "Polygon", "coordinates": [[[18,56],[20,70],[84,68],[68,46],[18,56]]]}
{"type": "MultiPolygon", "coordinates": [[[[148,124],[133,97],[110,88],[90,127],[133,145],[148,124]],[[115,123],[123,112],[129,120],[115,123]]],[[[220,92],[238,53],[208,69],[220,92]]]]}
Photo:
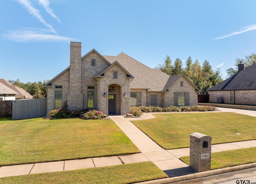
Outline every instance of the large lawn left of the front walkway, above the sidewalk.
{"type": "Polygon", "coordinates": [[[112,120],[0,119],[0,166],[137,153],[112,120]]]}

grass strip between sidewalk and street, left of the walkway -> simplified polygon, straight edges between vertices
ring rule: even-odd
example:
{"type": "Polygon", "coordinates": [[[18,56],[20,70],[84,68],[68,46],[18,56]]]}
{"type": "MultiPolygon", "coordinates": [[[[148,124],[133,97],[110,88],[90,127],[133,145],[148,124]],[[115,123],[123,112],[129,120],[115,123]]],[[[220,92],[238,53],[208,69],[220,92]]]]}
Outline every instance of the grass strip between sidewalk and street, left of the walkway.
{"type": "Polygon", "coordinates": [[[152,162],[0,178],[1,184],[130,184],[167,178],[152,162]]]}

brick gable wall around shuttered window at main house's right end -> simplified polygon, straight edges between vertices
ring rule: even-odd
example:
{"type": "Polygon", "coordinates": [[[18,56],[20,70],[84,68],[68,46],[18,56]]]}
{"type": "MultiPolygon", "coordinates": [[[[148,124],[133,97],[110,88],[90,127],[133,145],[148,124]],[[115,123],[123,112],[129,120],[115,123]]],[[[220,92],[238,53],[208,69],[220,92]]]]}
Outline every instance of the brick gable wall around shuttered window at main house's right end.
{"type": "Polygon", "coordinates": [[[185,77],[180,77],[172,84],[165,95],[165,107],[174,105],[174,92],[189,92],[189,106],[197,105],[196,89],[187,81],[185,77]],[[183,81],[183,87],[180,87],[180,81],[183,81]]]}

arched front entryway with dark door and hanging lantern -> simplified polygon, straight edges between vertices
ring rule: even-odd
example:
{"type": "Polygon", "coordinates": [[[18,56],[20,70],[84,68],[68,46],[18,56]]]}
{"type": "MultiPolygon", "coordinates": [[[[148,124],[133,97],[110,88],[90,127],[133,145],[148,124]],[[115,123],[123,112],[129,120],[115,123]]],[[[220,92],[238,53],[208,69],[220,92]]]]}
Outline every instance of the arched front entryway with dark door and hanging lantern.
{"type": "Polygon", "coordinates": [[[121,86],[118,84],[108,86],[108,114],[121,114],[121,86]]]}

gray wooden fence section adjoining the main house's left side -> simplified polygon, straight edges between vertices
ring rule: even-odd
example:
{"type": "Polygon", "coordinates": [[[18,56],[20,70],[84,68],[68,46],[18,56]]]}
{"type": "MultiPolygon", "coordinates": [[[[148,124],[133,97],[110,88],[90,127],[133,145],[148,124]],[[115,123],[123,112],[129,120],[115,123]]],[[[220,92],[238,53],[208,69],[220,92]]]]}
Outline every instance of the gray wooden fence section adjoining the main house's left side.
{"type": "Polygon", "coordinates": [[[46,98],[14,100],[12,103],[12,119],[28,119],[45,117],[46,98]]]}

